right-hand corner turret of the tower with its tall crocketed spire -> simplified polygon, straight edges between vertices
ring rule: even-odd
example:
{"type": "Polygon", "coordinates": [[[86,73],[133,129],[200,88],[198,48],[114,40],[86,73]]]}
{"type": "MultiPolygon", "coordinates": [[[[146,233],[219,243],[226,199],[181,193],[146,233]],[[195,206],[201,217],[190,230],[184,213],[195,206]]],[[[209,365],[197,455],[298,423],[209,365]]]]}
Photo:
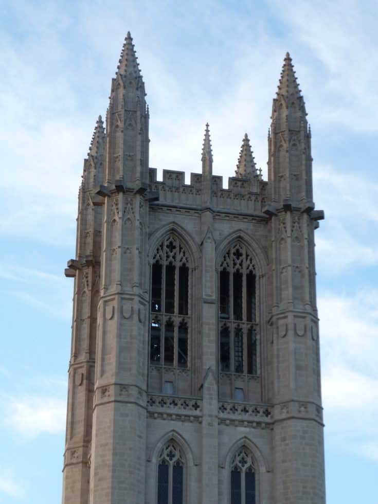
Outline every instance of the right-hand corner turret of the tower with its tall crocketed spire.
{"type": "Polygon", "coordinates": [[[268,137],[271,390],[275,503],[325,502],[311,133],[286,54],[268,137]]]}

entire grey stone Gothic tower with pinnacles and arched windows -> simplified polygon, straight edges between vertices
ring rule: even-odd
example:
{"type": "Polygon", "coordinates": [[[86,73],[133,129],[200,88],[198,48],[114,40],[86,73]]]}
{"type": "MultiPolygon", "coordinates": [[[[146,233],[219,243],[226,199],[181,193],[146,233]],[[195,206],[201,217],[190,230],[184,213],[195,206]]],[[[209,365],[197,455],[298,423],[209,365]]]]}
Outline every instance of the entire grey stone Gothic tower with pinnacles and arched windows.
{"type": "MultiPolygon", "coordinates": [[[[79,190],[63,504],[325,504],[311,133],[289,53],[268,181],[149,167],[130,33],[79,190]]],[[[236,146],[237,147],[237,146],[236,146]]],[[[237,156],[236,156],[237,158],[237,156]]],[[[199,159],[200,163],[200,159],[199,159]]],[[[164,168],[164,167],[163,167],[164,168]]],[[[195,171],[195,169],[194,169],[195,171]]]]}

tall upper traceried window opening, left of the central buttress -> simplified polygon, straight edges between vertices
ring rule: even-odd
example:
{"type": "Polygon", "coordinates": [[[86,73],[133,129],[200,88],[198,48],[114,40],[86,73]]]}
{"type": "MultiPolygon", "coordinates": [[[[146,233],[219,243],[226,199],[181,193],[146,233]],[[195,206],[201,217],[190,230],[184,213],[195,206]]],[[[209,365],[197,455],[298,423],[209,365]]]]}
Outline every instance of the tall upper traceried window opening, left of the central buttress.
{"type": "Polygon", "coordinates": [[[171,233],[156,248],[151,273],[150,363],[188,368],[189,258],[171,233]]]}

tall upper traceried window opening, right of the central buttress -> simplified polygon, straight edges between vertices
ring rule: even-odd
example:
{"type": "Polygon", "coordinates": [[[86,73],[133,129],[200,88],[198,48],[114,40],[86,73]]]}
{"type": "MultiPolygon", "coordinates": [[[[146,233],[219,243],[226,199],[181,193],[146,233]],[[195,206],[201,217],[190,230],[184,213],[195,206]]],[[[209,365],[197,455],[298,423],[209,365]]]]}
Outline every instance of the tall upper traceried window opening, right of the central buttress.
{"type": "Polygon", "coordinates": [[[220,264],[219,328],[221,372],[258,374],[256,269],[241,242],[220,264]]]}

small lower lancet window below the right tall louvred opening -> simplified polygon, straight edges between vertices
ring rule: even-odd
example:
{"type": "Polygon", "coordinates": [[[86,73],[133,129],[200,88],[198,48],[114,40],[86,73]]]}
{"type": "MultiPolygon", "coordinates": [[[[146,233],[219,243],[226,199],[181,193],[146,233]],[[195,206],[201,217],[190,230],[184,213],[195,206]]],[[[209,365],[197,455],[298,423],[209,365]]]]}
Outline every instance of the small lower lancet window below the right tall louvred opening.
{"type": "Polygon", "coordinates": [[[255,464],[245,446],[231,462],[231,504],[256,504],[255,464]]]}

